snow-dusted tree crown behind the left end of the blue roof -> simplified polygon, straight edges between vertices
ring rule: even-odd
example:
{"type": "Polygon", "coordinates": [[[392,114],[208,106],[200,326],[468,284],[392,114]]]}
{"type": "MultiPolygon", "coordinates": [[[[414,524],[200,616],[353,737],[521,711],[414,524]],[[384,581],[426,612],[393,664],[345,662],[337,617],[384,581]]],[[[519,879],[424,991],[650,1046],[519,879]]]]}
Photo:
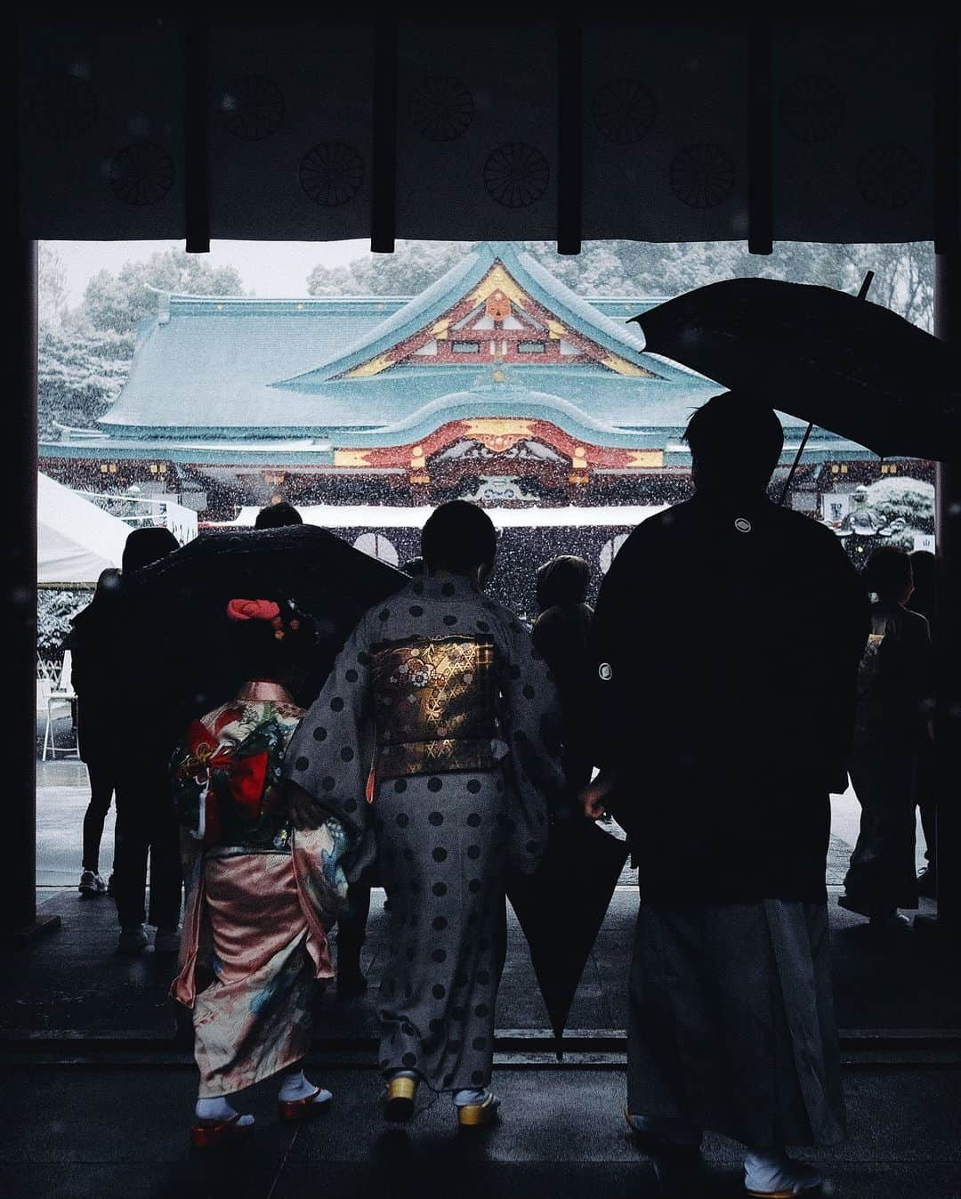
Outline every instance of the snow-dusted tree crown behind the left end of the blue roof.
{"type": "Polygon", "coordinates": [[[198,296],[243,295],[243,281],[234,266],[211,266],[201,254],[167,249],[144,263],[125,263],[120,271],[97,271],[84,291],[80,315],[97,330],[128,333],[157,313],[157,294],[180,291],[198,296]]]}

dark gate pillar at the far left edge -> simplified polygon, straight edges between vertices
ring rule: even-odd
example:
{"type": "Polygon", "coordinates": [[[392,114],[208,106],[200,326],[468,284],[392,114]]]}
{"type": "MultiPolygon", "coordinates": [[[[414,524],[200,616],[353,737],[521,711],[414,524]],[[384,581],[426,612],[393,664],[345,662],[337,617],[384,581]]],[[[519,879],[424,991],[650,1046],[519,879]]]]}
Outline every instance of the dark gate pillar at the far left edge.
{"type": "Polygon", "coordinates": [[[7,852],[0,870],[0,934],[28,938],[58,928],[37,920],[37,245],[18,241],[10,279],[10,385],[4,482],[11,502],[4,536],[2,661],[7,687],[7,852]]]}

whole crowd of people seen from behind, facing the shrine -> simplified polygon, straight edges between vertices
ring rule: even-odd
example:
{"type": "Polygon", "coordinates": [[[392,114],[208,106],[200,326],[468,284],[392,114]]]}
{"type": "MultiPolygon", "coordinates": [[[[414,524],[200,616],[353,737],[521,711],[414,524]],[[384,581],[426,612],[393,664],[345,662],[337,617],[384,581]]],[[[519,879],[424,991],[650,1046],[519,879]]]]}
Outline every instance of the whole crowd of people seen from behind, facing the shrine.
{"type": "MultiPolygon", "coordinates": [[[[119,687],[149,635],[121,619],[125,588],[176,548],[163,530],[131,534],[122,572],[104,573],[75,621],[91,783],[80,888],[109,887],[113,793],[120,948],[140,951],[150,923],[156,951],[180,951],[194,1145],[249,1129],[236,1096],[268,1077],[283,1120],[330,1102],[302,1070],[310,995],[336,975],[344,999],[365,988],[371,882],[388,909],[387,1119],[409,1119],[424,1086],[451,1095],[461,1127],[495,1120],[508,873],[536,876],[557,813],[576,806],[614,814],[639,868],[630,1127],[655,1161],[697,1158],[705,1129],[739,1140],[755,1195],[820,1183],[785,1146],[845,1135],[829,795],[850,772],[863,808],[840,903],[900,922],[919,890],[915,805],[933,819],[931,609],[909,607],[925,564],[883,549],[859,577],[829,530],[770,502],[770,408],[718,396],[685,438],[694,496],[637,526],[594,611],[587,564],[562,556],[538,572],[528,632],[484,594],[490,519],[445,504],[407,582],[362,616],[307,707],[294,695],[312,616],[296,596],[232,600],[223,619],[244,682],[186,729],[146,705],[117,729],[119,687]]],[[[296,522],[274,505],[256,525],[296,522]]],[[[921,888],[935,870],[930,858],[921,888]]]]}

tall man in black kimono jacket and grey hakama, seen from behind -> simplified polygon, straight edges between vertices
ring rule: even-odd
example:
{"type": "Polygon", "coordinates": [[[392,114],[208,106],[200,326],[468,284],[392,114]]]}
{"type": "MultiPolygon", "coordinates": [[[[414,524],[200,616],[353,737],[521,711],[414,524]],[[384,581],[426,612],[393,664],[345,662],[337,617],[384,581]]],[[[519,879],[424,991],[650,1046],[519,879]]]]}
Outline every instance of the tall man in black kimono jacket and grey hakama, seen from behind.
{"type": "Polygon", "coordinates": [[[628,1119],[655,1146],[732,1137],[751,1194],[792,1195],[820,1179],[784,1146],[844,1138],[824,868],[868,598],[828,529],[768,500],[769,406],[717,396],[685,439],[695,495],[635,529],[594,614],[585,808],[640,868],[628,1119]]]}

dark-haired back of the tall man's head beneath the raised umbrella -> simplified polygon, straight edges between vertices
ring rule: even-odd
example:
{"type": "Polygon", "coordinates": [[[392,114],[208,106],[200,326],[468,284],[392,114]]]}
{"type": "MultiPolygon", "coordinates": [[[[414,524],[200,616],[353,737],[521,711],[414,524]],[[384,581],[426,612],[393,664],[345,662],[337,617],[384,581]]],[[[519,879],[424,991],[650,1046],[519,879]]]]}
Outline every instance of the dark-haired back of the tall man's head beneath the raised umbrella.
{"type": "Polygon", "coordinates": [[[691,416],[684,441],[700,474],[717,478],[730,470],[763,487],[781,457],[784,429],[770,404],[725,391],[691,416]]]}

